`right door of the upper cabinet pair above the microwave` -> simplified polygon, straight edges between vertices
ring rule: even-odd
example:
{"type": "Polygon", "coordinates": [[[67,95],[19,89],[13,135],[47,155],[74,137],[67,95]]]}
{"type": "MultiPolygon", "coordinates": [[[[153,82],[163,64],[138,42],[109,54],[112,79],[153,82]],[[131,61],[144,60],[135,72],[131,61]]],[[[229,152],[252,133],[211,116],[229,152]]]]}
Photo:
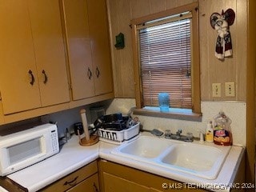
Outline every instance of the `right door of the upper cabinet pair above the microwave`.
{"type": "Polygon", "coordinates": [[[42,106],[69,102],[58,0],[28,0],[42,106]]]}

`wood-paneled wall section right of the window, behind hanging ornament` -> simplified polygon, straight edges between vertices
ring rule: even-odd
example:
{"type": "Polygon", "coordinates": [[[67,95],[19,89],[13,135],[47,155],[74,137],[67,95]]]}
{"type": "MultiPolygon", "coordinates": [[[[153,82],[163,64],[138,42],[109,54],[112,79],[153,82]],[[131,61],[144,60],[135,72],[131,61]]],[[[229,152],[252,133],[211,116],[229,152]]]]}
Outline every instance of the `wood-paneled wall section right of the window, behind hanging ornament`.
{"type": "Polygon", "coordinates": [[[247,14],[244,0],[199,0],[200,66],[202,100],[246,101],[247,14]],[[217,31],[210,27],[210,14],[233,9],[234,24],[230,26],[233,56],[220,61],[214,56],[217,31]],[[211,84],[222,83],[222,97],[212,98],[211,84]],[[225,96],[225,82],[235,82],[235,97],[225,96]]]}

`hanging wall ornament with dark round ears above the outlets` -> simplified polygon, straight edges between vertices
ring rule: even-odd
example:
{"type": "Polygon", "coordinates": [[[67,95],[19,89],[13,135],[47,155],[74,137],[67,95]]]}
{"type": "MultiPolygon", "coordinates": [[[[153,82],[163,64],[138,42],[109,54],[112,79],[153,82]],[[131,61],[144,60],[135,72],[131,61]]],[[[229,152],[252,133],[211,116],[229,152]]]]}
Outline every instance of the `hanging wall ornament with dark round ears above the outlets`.
{"type": "Polygon", "coordinates": [[[217,30],[218,38],[215,48],[215,56],[218,59],[224,59],[232,56],[232,42],[230,35],[230,26],[234,23],[234,10],[228,9],[222,14],[214,13],[210,15],[210,25],[217,30]]]}

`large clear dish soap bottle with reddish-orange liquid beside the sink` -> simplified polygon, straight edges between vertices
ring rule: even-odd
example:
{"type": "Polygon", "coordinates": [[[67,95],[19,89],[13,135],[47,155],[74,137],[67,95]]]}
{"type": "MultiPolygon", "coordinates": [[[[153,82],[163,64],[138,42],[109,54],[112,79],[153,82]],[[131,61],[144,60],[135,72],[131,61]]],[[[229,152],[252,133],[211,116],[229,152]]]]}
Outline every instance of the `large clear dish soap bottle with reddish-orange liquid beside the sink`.
{"type": "Polygon", "coordinates": [[[214,118],[214,122],[214,143],[221,146],[231,146],[233,142],[230,130],[231,119],[221,111],[214,118]]]}

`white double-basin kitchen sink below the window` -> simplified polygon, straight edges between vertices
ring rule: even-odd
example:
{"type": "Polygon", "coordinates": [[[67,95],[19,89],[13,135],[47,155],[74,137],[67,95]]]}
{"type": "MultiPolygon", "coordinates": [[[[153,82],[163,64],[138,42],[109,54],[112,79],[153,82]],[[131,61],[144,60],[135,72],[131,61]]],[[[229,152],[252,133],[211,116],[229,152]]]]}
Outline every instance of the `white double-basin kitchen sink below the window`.
{"type": "Polygon", "coordinates": [[[230,146],[141,136],[133,142],[118,146],[111,154],[166,170],[177,170],[201,178],[214,179],[217,178],[229,151],[230,146]]]}

